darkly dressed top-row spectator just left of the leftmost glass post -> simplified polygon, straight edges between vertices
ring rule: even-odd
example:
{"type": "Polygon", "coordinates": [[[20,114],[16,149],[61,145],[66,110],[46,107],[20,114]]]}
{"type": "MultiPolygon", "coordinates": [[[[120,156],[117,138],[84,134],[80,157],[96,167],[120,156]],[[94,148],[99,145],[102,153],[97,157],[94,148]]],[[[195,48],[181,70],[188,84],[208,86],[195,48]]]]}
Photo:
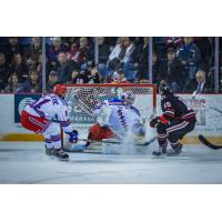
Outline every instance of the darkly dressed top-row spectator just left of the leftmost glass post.
{"type": "Polygon", "coordinates": [[[42,53],[42,47],[41,47],[41,38],[40,37],[33,37],[32,38],[32,44],[27,48],[24,51],[24,59],[27,65],[38,65],[39,64],[39,58],[42,53]]]}

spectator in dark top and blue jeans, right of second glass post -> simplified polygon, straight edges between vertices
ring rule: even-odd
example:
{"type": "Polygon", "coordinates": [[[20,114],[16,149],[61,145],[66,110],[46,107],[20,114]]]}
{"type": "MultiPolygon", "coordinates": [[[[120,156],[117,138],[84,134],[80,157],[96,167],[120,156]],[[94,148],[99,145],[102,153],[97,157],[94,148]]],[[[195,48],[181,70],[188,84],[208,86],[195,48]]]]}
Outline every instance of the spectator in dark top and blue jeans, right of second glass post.
{"type": "Polygon", "coordinates": [[[103,79],[105,79],[109,74],[108,72],[108,60],[110,54],[110,48],[108,44],[104,43],[104,37],[98,37],[99,42],[99,64],[98,64],[98,71],[101,74],[103,79]]]}

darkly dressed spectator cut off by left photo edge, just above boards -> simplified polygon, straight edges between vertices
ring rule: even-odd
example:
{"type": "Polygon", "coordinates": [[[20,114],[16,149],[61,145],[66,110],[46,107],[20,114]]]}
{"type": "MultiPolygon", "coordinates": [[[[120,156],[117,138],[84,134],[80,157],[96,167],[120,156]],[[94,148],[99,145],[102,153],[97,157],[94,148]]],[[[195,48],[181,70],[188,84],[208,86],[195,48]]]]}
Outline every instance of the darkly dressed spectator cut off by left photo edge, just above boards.
{"type": "Polygon", "coordinates": [[[0,92],[6,88],[9,78],[9,64],[4,53],[0,53],[0,92]]]}

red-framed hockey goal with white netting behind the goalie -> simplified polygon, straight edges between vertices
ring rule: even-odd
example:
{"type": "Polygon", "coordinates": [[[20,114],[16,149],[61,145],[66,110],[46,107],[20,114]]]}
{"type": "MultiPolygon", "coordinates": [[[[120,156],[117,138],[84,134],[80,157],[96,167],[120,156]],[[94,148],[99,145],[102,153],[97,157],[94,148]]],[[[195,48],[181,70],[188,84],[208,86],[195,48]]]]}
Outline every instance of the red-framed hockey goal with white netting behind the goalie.
{"type": "Polygon", "coordinates": [[[68,84],[65,101],[71,123],[75,129],[88,129],[95,123],[92,113],[97,103],[119,98],[122,92],[135,94],[134,107],[141,117],[150,118],[155,113],[157,89],[154,84],[68,84]]]}

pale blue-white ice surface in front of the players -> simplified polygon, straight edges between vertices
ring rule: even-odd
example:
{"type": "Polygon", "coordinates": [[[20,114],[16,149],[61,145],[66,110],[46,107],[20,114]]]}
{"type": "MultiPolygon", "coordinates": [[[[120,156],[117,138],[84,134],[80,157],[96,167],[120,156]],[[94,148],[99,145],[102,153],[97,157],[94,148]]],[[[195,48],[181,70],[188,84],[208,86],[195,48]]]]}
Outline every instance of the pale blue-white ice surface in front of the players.
{"type": "Polygon", "coordinates": [[[70,153],[44,154],[41,142],[0,142],[1,184],[209,184],[222,183],[222,150],[184,145],[179,157],[70,153]]]}

